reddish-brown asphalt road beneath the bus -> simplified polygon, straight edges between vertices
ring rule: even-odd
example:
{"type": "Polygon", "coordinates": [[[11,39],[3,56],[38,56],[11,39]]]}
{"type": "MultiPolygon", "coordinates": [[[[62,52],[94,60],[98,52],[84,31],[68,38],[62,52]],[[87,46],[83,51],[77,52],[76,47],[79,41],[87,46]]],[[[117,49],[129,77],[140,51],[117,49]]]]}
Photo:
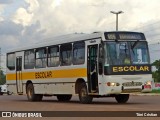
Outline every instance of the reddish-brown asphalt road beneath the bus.
{"type": "MultiPolygon", "coordinates": [[[[118,119],[119,115],[116,116],[116,111],[136,111],[137,113],[144,113],[144,111],[156,111],[160,113],[160,96],[130,96],[129,101],[126,104],[118,104],[114,98],[94,98],[92,104],[81,104],[79,103],[78,96],[73,97],[70,102],[58,102],[55,96],[44,97],[41,102],[29,102],[25,95],[3,95],[0,96],[0,111],[95,111],[91,112],[93,116],[95,116],[94,114],[96,114],[96,111],[97,113],[98,111],[113,111],[113,117],[118,119]]],[[[73,112],[73,114],[75,113],[73,112]]],[[[129,113],[126,112],[126,114],[129,113]]],[[[84,120],[83,116],[76,119],[75,117],[64,118],[63,112],[61,117],[67,120],[84,120]]],[[[104,119],[102,117],[100,118],[104,119]]],[[[127,118],[127,115],[124,118],[127,118]]],[[[151,117],[135,118],[141,120],[144,118],[145,120],[151,119],[151,117]]],[[[50,119],[54,120],[55,117],[50,117],[50,119]]],[[[57,119],[61,118],[58,117],[57,119]]],[[[87,119],[91,118],[87,117],[87,119]]],[[[94,117],[92,119],[97,120],[98,117],[94,117]]],[[[155,120],[159,118],[155,117],[153,119],[155,120]]],[[[129,120],[131,120],[130,117],[129,120]]]]}

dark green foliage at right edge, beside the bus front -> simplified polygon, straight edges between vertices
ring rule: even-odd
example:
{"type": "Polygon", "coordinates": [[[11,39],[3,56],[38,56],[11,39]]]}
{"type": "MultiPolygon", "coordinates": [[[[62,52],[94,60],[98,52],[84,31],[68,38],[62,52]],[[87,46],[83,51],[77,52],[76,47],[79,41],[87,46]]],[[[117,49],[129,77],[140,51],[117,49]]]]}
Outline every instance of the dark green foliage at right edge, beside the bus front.
{"type": "Polygon", "coordinates": [[[156,67],[156,71],[152,73],[154,82],[160,82],[160,60],[156,60],[152,63],[152,66],[156,67]]]}

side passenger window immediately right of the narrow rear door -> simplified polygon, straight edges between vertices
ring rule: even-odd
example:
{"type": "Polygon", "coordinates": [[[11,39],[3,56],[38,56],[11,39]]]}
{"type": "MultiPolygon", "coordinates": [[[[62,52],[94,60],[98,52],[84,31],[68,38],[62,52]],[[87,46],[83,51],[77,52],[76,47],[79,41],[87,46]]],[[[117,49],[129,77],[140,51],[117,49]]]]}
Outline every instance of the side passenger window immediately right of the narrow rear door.
{"type": "Polygon", "coordinates": [[[24,69],[33,69],[35,66],[34,49],[24,52],[24,69]]]}

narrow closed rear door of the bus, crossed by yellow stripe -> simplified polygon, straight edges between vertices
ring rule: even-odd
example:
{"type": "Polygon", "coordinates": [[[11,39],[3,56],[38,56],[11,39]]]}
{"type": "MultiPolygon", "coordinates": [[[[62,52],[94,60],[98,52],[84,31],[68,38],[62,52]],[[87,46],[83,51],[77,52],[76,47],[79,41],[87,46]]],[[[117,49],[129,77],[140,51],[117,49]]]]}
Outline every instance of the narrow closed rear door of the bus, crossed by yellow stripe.
{"type": "Polygon", "coordinates": [[[22,56],[16,56],[16,85],[17,85],[17,93],[18,94],[23,94],[22,56]]]}

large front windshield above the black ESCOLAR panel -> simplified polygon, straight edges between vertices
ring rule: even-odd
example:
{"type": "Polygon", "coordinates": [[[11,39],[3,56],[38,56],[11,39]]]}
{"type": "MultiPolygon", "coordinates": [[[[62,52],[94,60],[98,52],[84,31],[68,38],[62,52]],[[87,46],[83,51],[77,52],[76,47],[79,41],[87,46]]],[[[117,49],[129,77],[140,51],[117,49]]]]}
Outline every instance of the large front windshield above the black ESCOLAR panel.
{"type": "Polygon", "coordinates": [[[147,42],[105,42],[105,65],[149,64],[147,42]]]}

